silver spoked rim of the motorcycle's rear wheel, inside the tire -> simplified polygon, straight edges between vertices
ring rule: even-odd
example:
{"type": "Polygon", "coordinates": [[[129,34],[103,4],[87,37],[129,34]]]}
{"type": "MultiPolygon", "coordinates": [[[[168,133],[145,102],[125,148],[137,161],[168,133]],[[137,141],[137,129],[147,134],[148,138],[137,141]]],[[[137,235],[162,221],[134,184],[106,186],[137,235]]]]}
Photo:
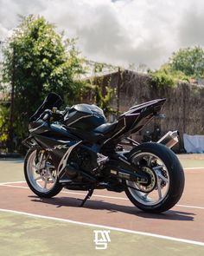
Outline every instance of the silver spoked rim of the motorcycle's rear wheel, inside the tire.
{"type": "Polygon", "coordinates": [[[169,192],[169,171],[163,161],[156,156],[156,154],[151,154],[149,152],[133,155],[131,162],[137,165],[142,159],[147,162],[147,167],[151,168],[156,175],[155,189],[150,193],[145,193],[131,188],[135,187],[137,189],[141,189],[141,187],[135,181],[126,181],[126,184],[131,186],[128,187],[128,190],[131,193],[131,196],[137,200],[137,202],[145,206],[156,206],[164,200],[169,192]]]}

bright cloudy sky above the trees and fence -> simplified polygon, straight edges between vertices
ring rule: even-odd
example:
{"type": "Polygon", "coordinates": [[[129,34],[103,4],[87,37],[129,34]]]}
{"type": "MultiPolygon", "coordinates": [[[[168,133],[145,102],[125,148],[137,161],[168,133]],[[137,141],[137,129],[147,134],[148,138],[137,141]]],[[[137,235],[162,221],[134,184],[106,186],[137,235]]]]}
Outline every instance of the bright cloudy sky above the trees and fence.
{"type": "Polygon", "coordinates": [[[78,37],[83,56],[158,68],[179,48],[204,47],[203,0],[0,0],[0,40],[38,14],[78,37]]]}

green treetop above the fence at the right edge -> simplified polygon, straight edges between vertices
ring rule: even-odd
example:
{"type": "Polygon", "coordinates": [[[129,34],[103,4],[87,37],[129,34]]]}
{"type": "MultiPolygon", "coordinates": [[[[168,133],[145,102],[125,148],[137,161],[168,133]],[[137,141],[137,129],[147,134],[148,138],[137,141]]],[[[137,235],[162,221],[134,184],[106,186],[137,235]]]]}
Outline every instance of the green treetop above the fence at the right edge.
{"type": "Polygon", "coordinates": [[[204,50],[194,48],[179,49],[170,58],[171,69],[182,71],[185,75],[202,78],[204,77],[204,50]]]}

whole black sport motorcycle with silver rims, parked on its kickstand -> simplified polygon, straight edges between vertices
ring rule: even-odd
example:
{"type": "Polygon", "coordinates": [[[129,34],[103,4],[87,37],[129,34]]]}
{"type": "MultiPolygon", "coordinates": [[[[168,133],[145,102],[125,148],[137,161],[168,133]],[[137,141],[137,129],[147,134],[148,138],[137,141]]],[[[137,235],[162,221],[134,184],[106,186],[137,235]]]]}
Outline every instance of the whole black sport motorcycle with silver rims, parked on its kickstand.
{"type": "Polygon", "coordinates": [[[29,121],[29,148],[24,162],[25,179],[39,197],[50,198],[62,187],[125,192],[145,212],[161,213],[174,207],[184,187],[183,169],[171,148],[177,132],[160,141],[137,143],[130,138],[154,116],[165,99],[130,108],[109,123],[95,105],[78,104],[60,111],[62,100],[51,93],[29,121]],[[164,144],[164,145],[163,145],[164,144]]]}

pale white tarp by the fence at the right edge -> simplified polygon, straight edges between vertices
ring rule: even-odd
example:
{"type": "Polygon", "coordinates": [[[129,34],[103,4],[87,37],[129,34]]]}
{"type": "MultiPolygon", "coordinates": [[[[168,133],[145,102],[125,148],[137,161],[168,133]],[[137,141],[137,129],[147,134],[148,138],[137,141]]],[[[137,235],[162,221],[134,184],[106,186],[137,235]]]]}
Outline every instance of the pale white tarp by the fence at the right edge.
{"type": "Polygon", "coordinates": [[[183,135],[187,153],[204,153],[204,135],[183,135]]]}

